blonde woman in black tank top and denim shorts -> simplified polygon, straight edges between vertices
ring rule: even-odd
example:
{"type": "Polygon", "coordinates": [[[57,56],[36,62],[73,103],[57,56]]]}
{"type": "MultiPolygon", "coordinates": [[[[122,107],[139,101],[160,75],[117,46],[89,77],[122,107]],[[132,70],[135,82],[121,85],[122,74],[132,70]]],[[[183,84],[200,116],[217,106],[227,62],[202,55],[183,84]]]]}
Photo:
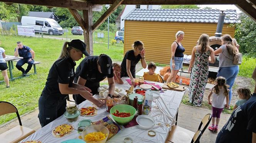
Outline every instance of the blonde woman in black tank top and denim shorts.
{"type": "Polygon", "coordinates": [[[180,43],[184,38],[184,32],[178,31],[176,33],[176,40],[172,43],[172,58],[170,61],[170,67],[171,67],[171,75],[167,79],[168,82],[175,82],[176,75],[179,72],[179,69],[182,68],[182,61],[184,57],[185,48],[180,43]]]}

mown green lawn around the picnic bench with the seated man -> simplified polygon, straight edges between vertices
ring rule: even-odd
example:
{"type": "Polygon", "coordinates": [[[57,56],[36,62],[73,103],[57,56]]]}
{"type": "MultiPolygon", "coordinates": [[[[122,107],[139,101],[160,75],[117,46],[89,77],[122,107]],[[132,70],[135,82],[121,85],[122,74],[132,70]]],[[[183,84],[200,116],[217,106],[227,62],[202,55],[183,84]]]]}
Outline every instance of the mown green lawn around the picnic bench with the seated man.
{"type": "MultiPolygon", "coordinates": [[[[41,62],[41,64],[37,64],[36,75],[10,81],[10,88],[5,88],[4,82],[0,83],[0,101],[12,103],[18,108],[20,115],[22,115],[38,107],[38,99],[45,86],[49,69],[58,58],[64,41],[24,36],[0,36],[0,41],[2,43],[0,46],[5,49],[5,54],[7,55],[13,55],[16,41],[22,41],[24,45],[29,46],[35,51],[35,61],[41,62]]],[[[108,54],[113,61],[121,61],[123,59],[123,44],[114,44],[113,46],[110,44],[108,49],[108,44],[106,43],[95,43],[94,55],[101,53],[108,54]]],[[[77,65],[79,65],[81,60],[76,62],[77,65]]],[[[16,62],[13,62],[13,64],[13,77],[21,76],[21,72],[15,67],[16,62]]],[[[24,66],[26,68],[27,64],[24,66]]],[[[33,72],[34,69],[32,68],[29,73],[33,72]]],[[[0,81],[2,80],[3,76],[1,75],[0,81]]],[[[15,117],[16,114],[3,115],[0,117],[0,124],[15,117]]]]}

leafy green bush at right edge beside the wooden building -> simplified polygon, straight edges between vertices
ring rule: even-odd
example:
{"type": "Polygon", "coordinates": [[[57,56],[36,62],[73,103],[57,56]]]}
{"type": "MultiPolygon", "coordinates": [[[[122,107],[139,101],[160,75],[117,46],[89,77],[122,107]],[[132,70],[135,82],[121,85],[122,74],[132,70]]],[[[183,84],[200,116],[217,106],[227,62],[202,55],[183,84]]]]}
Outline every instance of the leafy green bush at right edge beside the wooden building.
{"type": "Polygon", "coordinates": [[[246,14],[239,14],[240,23],[236,23],[235,38],[240,45],[239,51],[249,57],[256,57],[256,23],[246,14]]]}

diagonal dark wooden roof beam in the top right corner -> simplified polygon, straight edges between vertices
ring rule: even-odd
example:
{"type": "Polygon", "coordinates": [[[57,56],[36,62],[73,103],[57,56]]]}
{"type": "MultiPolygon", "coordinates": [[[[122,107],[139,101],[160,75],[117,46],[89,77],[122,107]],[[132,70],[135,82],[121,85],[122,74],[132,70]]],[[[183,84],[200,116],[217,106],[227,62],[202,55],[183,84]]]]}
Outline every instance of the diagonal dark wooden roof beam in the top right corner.
{"type": "Polygon", "coordinates": [[[256,22],[256,9],[246,2],[246,0],[241,1],[238,5],[236,5],[236,7],[242,10],[246,15],[256,22]]]}

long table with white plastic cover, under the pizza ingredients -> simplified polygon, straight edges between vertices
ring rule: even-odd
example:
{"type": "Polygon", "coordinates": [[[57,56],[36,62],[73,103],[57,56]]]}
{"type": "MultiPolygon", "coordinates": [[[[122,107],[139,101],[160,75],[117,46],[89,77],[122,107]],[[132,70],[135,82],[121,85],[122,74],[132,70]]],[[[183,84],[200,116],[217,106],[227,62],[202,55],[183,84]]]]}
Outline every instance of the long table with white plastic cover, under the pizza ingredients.
{"type": "MultiPolygon", "coordinates": [[[[127,77],[123,77],[122,80],[124,81],[124,84],[116,84],[116,87],[123,88],[128,90],[130,85],[128,82],[125,81],[125,79],[128,79],[127,77]]],[[[162,83],[159,82],[151,82],[147,81],[149,83],[155,83],[160,86],[162,86],[162,83]]],[[[138,86],[136,89],[139,88],[138,86]]],[[[124,139],[126,137],[130,137],[133,139],[133,143],[164,143],[168,132],[173,124],[175,124],[175,115],[177,111],[179,110],[180,102],[182,100],[183,95],[185,94],[185,91],[179,92],[174,90],[166,90],[164,93],[160,94],[160,97],[157,99],[153,99],[153,107],[150,111],[149,116],[153,117],[155,119],[155,127],[148,129],[148,130],[154,130],[156,132],[156,136],[150,137],[148,136],[148,130],[143,130],[139,128],[139,125],[130,127],[130,128],[124,128],[113,136],[110,140],[107,141],[107,143],[123,143],[124,139]]],[[[94,95],[95,98],[99,98],[99,95],[94,95]]],[[[87,107],[92,106],[92,103],[88,100],[82,102],[79,104],[79,108],[81,107],[87,107]]],[[[32,135],[25,138],[23,141],[29,141],[29,140],[39,140],[42,141],[42,143],[60,143],[61,141],[69,140],[69,139],[78,139],[78,133],[76,130],[72,131],[70,135],[64,136],[62,138],[55,138],[52,135],[52,130],[61,124],[68,123],[74,126],[74,128],[78,127],[78,123],[81,120],[84,119],[90,119],[92,122],[98,121],[107,115],[110,115],[110,113],[106,112],[106,106],[103,106],[101,108],[98,108],[98,114],[94,117],[82,117],[79,116],[78,120],[76,122],[70,123],[66,120],[64,115],[57,118],[53,122],[49,123],[45,127],[41,128],[40,130],[36,131],[32,135]]],[[[111,115],[110,115],[111,116],[111,115]]]]}

